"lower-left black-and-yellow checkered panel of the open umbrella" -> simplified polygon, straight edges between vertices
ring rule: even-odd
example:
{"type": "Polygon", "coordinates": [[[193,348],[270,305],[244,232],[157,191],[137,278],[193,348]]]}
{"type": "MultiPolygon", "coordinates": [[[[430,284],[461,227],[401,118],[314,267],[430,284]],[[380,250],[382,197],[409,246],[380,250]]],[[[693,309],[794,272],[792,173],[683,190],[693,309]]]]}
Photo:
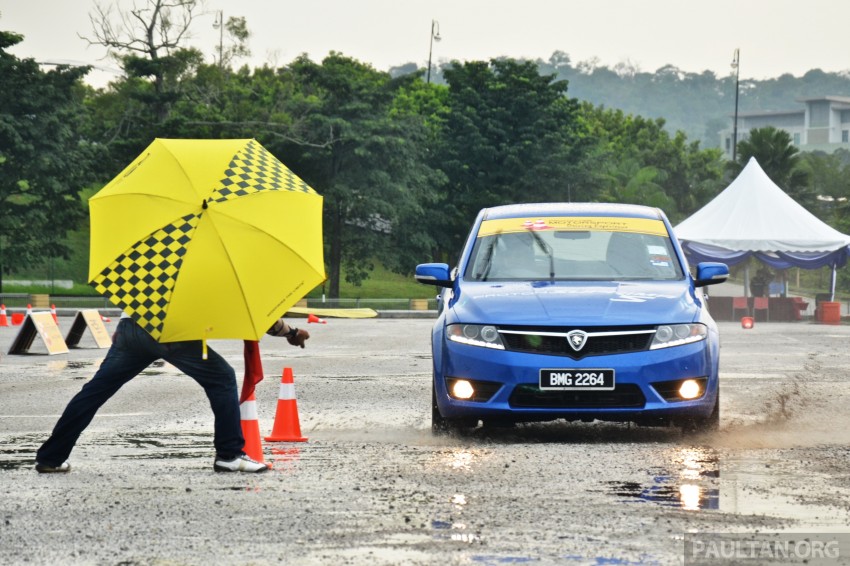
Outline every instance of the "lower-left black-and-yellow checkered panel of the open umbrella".
{"type": "Polygon", "coordinates": [[[180,273],[186,244],[199,219],[200,215],[189,214],[157,230],[91,281],[100,294],[121,307],[154,338],[162,333],[165,307],[180,273]]]}

